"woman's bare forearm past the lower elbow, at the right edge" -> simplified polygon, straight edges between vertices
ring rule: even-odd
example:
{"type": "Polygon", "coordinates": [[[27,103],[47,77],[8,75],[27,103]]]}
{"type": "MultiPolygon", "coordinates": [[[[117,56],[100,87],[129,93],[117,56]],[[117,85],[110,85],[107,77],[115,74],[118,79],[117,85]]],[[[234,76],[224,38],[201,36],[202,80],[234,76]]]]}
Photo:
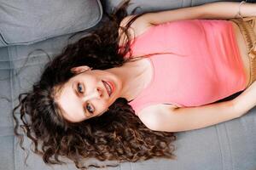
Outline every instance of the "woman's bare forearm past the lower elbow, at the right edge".
{"type": "Polygon", "coordinates": [[[256,81],[254,81],[245,91],[233,99],[234,107],[239,116],[242,116],[253,109],[256,105],[256,81]]]}

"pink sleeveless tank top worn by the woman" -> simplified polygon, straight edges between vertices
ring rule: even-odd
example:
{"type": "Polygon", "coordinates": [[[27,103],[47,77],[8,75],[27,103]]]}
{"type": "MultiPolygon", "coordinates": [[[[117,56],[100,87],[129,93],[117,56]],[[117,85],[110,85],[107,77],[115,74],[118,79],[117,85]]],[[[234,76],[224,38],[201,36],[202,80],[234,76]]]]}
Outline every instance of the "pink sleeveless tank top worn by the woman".
{"type": "Polygon", "coordinates": [[[207,105],[246,88],[246,73],[228,20],[178,20],[148,28],[131,43],[132,55],[154,54],[153,76],[129,104],[207,105]],[[174,53],[174,54],[155,54],[174,53]]]}

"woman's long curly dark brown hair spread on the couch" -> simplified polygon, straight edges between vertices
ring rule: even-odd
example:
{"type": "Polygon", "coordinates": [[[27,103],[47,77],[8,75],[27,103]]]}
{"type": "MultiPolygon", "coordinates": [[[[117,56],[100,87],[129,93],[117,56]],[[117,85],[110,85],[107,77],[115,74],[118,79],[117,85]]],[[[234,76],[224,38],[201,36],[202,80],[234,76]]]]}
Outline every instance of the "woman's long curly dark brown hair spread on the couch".
{"type": "MultiPolygon", "coordinates": [[[[129,1],[106,14],[108,20],[98,29],[79,41],[70,43],[61,54],[45,65],[38,82],[28,93],[19,95],[19,105],[13,111],[15,135],[23,147],[23,130],[32,140],[32,151],[43,156],[48,164],[62,164],[60,156],[72,160],[76,167],[101,167],[95,164],[81,166],[79,161],[96,158],[100,161],[143,161],[153,157],[176,159],[172,154],[176,139],[173,133],[156,132],[148,129],[135,115],[124,98],[117,99],[102,116],[93,117],[84,122],[67,122],[61,117],[59,106],[55,102],[55,86],[67,82],[74,73],[71,68],[89,65],[94,69],[109,69],[129,62],[125,59],[129,53],[129,43],[119,50],[119,29],[129,37],[127,29],[142,14],[135,15],[125,27],[120,21],[127,16],[129,1]],[[20,108],[20,120],[15,111],[20,108]]],[[[132,14],[135,13],[135,10],[132,14]]],[[[107,165],[109,166],[109,165],[107,165]]],[[[105,166],[104,166],[105,167],[105,166]]]]}

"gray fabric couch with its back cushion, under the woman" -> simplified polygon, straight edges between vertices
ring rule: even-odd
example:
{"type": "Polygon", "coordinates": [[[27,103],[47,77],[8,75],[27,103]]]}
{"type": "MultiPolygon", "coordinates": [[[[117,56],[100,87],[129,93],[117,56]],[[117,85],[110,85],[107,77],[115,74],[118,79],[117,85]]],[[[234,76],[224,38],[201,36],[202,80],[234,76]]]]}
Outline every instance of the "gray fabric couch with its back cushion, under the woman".
{"type": "MultiPolygon", "coordinates": [[[[32,88],[44,65],[61,48],[95,29],[104,18],[102,9],[111,11],[120,0],[0,0],[0,169],[76,169],[67,165],[47,166],[42,158],[20,150],[13,133],[12,109],[20,93],[32,88]],[[36,2],[36,3],[35,3],[36,2]],[[28,57],[28,58],[27,58],[28,57]]],[[[132,1],[137,13],[182,8],[215,2],[214,0],[145,0],[132,1]]],[[[170,16],[172,17],[172,16],[170,16]]],[[[256,169],[256,110],[247,115],[212,127],[176,133],[174,154],[177,161],[152,159],[125,162],[108,169],[161,170],[255,170],[256,169]]],[[[24,142],[29,147],[28,139],[24,142]]],[[[96,161],[96,160],[91,160],[96,161]]],[[[96,161],[98,162],[98,161],[96,161]]],[[[103,164],[104,162],[98,162],[103,164]]],[[[94,167],[92,167],[94,169],[94,167]]]]}

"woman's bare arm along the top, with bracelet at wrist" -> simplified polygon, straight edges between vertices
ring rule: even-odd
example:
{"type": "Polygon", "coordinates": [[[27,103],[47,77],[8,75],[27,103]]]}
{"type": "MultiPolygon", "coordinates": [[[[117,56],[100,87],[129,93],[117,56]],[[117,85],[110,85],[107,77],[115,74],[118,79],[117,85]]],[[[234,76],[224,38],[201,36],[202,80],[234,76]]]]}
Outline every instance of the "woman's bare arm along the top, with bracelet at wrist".
{"type": "Polygon", "coordinates": [[[240,5],[240,2],[215,2],[147,13],[143,14],[140,20],[151,25],[159,25],[174,20],[232,19],[238,18],[239,6],[243,17],[256,16],[256,3],[242,3],[240,5]]]}

